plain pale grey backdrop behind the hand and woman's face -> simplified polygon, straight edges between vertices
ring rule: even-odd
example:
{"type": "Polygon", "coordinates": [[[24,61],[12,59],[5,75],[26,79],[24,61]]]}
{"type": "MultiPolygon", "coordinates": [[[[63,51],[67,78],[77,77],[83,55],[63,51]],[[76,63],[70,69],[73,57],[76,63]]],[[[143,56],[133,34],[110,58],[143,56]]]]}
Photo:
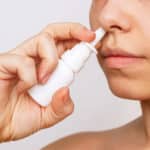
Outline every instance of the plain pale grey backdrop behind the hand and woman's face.
{"type": "MultiPolygon", "coordinates": [[[[0,0],[0,2],[1,52],[14,48],[52,22],[80,22],[89,27],[91,0],[0,0]]],[[[94,55],[76,77],[71,86],[71,96],[75,103],[75,111],[66,120],[28,138],[0,144],[0,149],[38,150],[69,134],[118,127],[141,113],[137,102],[122,100],[112,95],[94,55]]]]}

